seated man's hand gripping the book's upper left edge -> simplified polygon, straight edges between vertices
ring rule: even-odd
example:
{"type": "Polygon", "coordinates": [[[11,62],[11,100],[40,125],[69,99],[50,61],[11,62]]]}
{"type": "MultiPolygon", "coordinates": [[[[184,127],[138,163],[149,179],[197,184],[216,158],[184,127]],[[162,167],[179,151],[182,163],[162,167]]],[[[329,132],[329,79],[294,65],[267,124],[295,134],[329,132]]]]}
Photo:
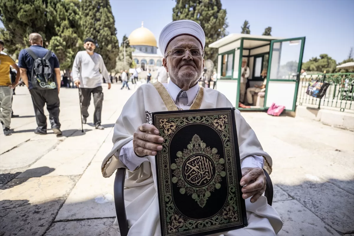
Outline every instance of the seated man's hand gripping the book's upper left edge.
{"type": "Polygon", "coordinates": [[[133,134],[133,150],[138,156],[155,156],[157,151],[162,150],[159,143],[164,139],[158,136],[158,129],[150,124],[143,124],[133,134]]]}

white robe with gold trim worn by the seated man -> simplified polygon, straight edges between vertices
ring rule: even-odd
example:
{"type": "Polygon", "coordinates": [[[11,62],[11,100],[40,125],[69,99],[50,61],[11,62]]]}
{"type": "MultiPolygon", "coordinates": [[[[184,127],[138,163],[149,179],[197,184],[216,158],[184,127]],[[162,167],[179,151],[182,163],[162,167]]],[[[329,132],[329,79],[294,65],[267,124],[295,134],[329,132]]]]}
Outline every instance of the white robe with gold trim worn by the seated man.
{"type": "MultiPolygon", "coordinates": [[[[229,100],[220,92],[205,88],[200,109],[232,107],[229,100]]],[[[102,163],[103,177],[110,177],[117,168],[127,168],[119,160],[120,149],[133,139],[133,133],[142,123],[149,122],[150,114],[156,111],[167,111],[158,91],[152,84],[138,87],[122,109],[122,113],[114,126],[112,151],[102,163]]],[[[247,124],[238,110],[235,110],[236,129],[240,150],[240,160],[250,155],[263,156],[264,169],[272,172],[272,159],[263,151],[256,134],[247,124]]],[[[125,206],[130,226],[128,235],[161,235],[159,202],[156,185],[155,157],[148,156],[133,172],[127,170],[125,180],[125,206]]],[[[215,235],[275,235],[282,221],[275,209],[267,204],[267,198],[261,196],[255,203],[246,199],[248,226],[218,233],[215,235]]],[[[115,221],[115,225],[118,222],[115,221]]]]}

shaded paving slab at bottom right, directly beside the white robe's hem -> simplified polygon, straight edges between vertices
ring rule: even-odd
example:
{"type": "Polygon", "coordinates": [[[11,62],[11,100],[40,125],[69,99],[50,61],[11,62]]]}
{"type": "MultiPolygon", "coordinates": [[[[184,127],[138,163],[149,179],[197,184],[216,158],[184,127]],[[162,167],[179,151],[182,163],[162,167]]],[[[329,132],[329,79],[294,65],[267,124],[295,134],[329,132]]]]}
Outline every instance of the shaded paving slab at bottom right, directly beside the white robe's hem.
{"type": "Polygon", "coordinates": [[[296,200],[278,201],[274,202],[272,206],[283,221],[279,235],[339,235],[296,200]]]}

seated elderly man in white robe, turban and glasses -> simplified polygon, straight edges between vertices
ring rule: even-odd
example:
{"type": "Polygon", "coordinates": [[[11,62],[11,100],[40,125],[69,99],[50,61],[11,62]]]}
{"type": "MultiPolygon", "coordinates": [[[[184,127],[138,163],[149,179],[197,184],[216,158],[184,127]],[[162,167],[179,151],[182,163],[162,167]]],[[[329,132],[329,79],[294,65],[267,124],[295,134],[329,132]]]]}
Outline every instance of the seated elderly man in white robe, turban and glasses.
{"type": "MultiPolygon", "coordinates": [[[[138,87],[115,123],[114,147],[104,159],[101,171],[103,177],[110,177],[117,168],[129,169],[124,191],[128,235],[161,235],[155,155],[164,141],[152,125],[151,113],[191,107],[232,107],[220,92],[198,85],[204,69],[204,46],[205,34],[196,22],[181,20],[167,24],[160,34],[159,48],[170,75],[169,84],[155,82],[138,87]]],[[[216,235],[275,235],[282,221],[262,196],[265,190],[262,168],[271,172],[272,159],[238,110],[235,117],[243,175],[240,185],[244,186],[242,197],[246,199],[249,224],[216,235]]]]}

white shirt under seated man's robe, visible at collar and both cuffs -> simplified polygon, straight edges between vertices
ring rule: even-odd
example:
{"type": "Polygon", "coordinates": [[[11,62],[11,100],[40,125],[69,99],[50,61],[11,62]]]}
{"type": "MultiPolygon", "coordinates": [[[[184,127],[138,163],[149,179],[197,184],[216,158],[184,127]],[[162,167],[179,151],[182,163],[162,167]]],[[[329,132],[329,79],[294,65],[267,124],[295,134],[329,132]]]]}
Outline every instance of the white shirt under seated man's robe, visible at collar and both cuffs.
{"type": "MultiPolygon", "coordinates": [[[[178,109],[188,110],[192,105],[194,98],[199,92],[199,85],[198,83],[194,85],[187,91],[181,90],[177,85],[175,85],[171,80],[169,84],[163,84],[169,92],[173,102],[175,102],[176,107],[178,109]]],[[[118,155],[116,155],[118,156],[118,155]]],[[[135,170],[141,163],[144,161],[148,161],[147,158],[138,157],[135,155],[133,150],[133,140],[129,143],[125,144],[119,153],[119,160],[126,166],[130,171],[135,170]]],[[[251,155],[245,157],[241,163],[241,168],[245,167],[259,167],[263,168],[263,157],[257,155],[251,155]]]]}

